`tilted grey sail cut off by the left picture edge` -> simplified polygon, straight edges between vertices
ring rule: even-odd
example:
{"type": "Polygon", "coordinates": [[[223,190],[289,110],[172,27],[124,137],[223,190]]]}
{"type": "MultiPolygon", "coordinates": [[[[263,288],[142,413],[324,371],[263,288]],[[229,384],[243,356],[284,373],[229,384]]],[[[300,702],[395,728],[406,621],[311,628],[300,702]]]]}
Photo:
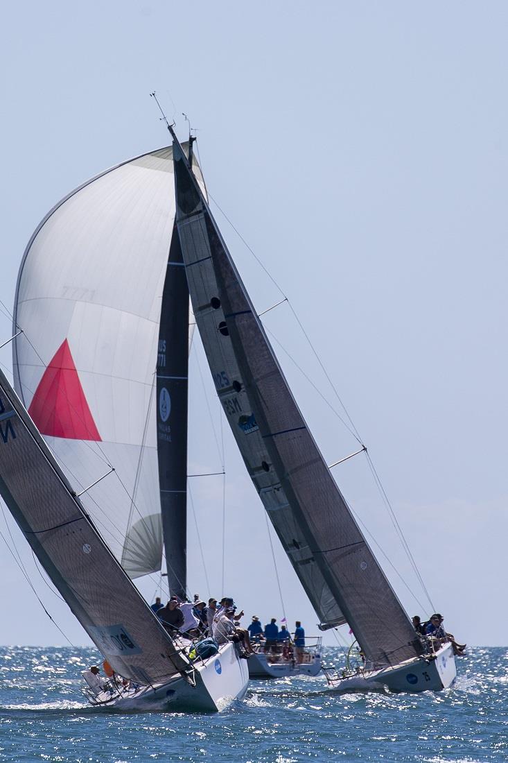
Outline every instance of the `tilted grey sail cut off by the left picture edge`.
{"type": "Polygon", "coordinates": [[[0,371],[0,493],[53,584],[114,671],[140,684],[188,668],[104,544],[0,371]]]}

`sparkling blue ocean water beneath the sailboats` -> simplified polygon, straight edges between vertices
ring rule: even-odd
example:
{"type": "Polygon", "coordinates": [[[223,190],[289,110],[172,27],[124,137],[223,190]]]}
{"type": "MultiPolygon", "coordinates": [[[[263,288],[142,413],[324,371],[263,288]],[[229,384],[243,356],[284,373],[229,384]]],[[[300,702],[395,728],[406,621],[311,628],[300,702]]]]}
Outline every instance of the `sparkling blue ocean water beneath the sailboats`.
{"type": "Polygon", "coordinates": [[[440,694],[251,681],[214,715],[88,707],[80,671],[97,661],[93,649],[0,647],[0,761],[508,761],[505,648],[458,660],[455,686],[440,694]]]}

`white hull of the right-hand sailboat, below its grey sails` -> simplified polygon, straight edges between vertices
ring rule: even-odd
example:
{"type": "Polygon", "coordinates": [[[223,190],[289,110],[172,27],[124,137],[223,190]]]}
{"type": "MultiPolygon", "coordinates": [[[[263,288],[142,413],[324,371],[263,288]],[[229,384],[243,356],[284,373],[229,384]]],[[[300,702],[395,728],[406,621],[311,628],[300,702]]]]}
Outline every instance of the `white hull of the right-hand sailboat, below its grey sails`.
{"type": "Polygon", "coordinates": [[[328,678],[330,687],[350,691],[441,691],[457,676],[452,644],[445,644],[430,658],[407,660],[391,668],[365,671],[346,678],[328,678]]]}

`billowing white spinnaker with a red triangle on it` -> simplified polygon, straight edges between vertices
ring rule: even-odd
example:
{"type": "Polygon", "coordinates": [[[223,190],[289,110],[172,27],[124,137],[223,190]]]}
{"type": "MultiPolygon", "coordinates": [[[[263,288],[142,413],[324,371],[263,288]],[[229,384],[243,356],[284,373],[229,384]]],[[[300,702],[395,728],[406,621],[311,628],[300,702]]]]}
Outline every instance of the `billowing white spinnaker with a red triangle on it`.
{"type": "MultiPolygon", "coordinates": [[[[172,148],[69,194],[18,275],[14,385],[132,578],[161,565],[156,358],[175,218],[172,148]]],[[[185,545],[185,538],[183,539],[185,545]]]]}

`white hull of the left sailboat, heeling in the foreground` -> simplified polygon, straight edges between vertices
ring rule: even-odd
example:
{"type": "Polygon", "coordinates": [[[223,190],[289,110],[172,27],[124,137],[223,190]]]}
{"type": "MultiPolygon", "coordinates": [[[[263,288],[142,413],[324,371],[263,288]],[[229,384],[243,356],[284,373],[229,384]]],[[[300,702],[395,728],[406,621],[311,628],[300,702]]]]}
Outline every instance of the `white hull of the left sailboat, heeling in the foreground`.
{"type": "Polygon", "coordinates": [[[220,647],[217,655],[194,665],[191,680],[175,677],[165,684],[137,687],[111,696],[103,691],[92,698],[92,704],[114,707],[126,712],[164,710],[175,712],[217,713],[247,691],[247,661],[236,654],[235,645],[220,647]]]}

